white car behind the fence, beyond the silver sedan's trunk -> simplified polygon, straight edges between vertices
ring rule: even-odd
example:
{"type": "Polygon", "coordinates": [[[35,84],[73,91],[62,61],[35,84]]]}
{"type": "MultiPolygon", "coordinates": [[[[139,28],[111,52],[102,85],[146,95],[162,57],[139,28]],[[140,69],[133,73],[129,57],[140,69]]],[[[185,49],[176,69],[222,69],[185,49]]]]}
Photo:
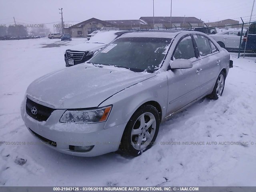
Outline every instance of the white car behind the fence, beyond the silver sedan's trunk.
{"type": "MultiPolygon", "coordinates": [[[[222,47],[230,50],[238,50],[240,45],[242,29],[229,29],[211,35],[211,37],[222,47]]],[[[244,30],[245,32],[245,30],[244,30]]]]}

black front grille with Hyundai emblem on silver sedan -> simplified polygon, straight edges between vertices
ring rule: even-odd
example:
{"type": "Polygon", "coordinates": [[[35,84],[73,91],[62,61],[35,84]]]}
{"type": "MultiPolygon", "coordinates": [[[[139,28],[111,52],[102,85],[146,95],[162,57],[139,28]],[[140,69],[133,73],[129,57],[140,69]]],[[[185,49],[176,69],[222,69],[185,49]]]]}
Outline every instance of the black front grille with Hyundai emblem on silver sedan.
{"type": "Polygon", "coordinates": [[[30,117],[34,118],[35,120],[46,121],[53,111],[54,109],[40,105],[27,98],[26,112],[30,117]]]}

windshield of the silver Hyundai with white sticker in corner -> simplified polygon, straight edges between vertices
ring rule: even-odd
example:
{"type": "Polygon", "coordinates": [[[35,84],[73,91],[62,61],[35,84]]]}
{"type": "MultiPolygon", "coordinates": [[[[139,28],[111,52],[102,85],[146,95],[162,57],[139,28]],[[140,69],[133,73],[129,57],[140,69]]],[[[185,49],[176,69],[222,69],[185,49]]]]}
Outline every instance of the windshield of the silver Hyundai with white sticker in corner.
{"type": "Polygon", "coordinates": [[[135,72],[159,69],[172,39],[120,38],[98,53],[90,62],[129,68],[135,72]]]}

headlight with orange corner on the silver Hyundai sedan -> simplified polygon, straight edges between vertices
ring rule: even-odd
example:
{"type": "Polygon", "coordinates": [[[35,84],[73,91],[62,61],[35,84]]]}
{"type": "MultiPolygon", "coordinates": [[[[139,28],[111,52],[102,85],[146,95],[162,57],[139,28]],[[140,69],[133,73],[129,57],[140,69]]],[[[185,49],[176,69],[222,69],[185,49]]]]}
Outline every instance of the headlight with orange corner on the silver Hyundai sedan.
{"type": "Polygon", "coordinates": [[[86,124],[104,122],[107,120],[111,108],[112,106],[93,110],[66,110],[60,118],[60,122],[74,122],[86,124]]]}

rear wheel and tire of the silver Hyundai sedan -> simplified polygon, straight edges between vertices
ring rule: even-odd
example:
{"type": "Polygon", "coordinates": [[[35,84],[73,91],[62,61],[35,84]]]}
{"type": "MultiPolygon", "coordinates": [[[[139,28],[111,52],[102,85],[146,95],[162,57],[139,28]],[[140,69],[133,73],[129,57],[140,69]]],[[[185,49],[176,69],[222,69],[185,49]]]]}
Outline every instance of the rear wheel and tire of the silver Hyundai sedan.
{"type": "Polygon", "coordinates": [[[209,95],[209,98],[217,100],[220,96],[222,96],[222,93],[224,91],[224,86],[225,86],[225,80],[226,80],[226,75],[223,71],[221,71],[216,80],[213,91],[209,95]]]}

